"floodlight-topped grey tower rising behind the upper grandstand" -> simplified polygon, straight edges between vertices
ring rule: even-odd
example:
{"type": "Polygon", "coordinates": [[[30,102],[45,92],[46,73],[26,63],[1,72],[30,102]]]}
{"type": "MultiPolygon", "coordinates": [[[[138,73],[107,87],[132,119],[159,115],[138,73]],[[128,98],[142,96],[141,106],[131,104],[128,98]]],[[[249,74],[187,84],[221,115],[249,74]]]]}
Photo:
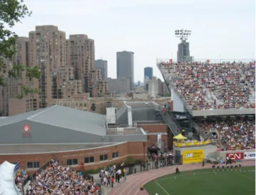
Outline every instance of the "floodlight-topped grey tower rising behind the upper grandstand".
{"type": "Polygon", "coordinates": [[[190,30],[175,30],[175,36],[180,38],[181,42],[178,44],[177,60],[179,62],[189,62],[193,60],[193,57],[190,56],[188,36],[191,35],[190,30]]]}

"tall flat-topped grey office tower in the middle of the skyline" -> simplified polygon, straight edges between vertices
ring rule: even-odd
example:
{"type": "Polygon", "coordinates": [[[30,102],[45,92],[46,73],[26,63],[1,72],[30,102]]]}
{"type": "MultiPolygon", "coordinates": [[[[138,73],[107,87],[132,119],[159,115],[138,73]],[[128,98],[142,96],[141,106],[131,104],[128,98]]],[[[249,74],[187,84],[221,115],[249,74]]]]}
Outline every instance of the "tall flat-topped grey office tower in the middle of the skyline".
{"type": "Polygon", "coordinates": [[[118,78],[130,79],[130,90],[134,88],[133,55],[131,51],[116,53],[116,73],[118,78]]]}

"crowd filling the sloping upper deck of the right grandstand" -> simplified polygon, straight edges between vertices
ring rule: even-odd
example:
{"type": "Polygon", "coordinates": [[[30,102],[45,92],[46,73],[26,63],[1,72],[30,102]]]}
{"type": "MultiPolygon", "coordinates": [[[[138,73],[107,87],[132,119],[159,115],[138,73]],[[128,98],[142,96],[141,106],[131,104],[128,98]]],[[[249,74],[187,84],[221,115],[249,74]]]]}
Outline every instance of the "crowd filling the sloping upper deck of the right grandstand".
{"type": "Polygon", "coordinates": [[[193,110],[255,107],[255,102],[250,101],[250,95],[255,93],[255,62],[160,65],[165,73],[170,73],[165,79],[175,85],[193,110]],[[252,85],[252,90],[245,81],[252,85]]]}

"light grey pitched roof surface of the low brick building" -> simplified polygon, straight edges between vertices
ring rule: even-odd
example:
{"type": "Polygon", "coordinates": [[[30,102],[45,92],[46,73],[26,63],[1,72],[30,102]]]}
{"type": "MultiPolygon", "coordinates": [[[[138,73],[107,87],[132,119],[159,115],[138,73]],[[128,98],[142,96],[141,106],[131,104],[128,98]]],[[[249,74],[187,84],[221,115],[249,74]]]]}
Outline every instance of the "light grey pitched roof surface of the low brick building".
{"type": "Polygon", "coordinates": [[[0,126],[21,121],[26,121],[26,123],[29,121],[40,122],[94,135],[106,135],[106,127],[104,127],[106,124],[105,115],[59,105],[3,118],[0,120],[0,126]]]}

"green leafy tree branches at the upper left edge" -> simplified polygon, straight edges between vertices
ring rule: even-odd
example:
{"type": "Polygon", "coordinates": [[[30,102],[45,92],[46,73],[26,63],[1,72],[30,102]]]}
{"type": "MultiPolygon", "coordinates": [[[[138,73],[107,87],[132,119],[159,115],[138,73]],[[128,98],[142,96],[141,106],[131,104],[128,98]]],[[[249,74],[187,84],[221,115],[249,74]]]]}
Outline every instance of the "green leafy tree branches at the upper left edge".
{"type": "MultiPolygon", "coordinates": [[[[0,85],[2,86],[6,85],[5,77],[18,80],[21,78],[23,71],[26,71],[26,78],[30,82],[34,78],[41,78],[41,70],[37,66],[17,65],[14,59],[18,36],[11,31],[11,28],[26,16],[31,16],[31,11],[29,11],[23,0],[0,1],[0,85]]],[[[39,89],[34,88],[33,85],[30,87],[22,86],[22,89],[22,93],[18,98],[22,98],[29,93],[39,93],[39,89]]]]}

